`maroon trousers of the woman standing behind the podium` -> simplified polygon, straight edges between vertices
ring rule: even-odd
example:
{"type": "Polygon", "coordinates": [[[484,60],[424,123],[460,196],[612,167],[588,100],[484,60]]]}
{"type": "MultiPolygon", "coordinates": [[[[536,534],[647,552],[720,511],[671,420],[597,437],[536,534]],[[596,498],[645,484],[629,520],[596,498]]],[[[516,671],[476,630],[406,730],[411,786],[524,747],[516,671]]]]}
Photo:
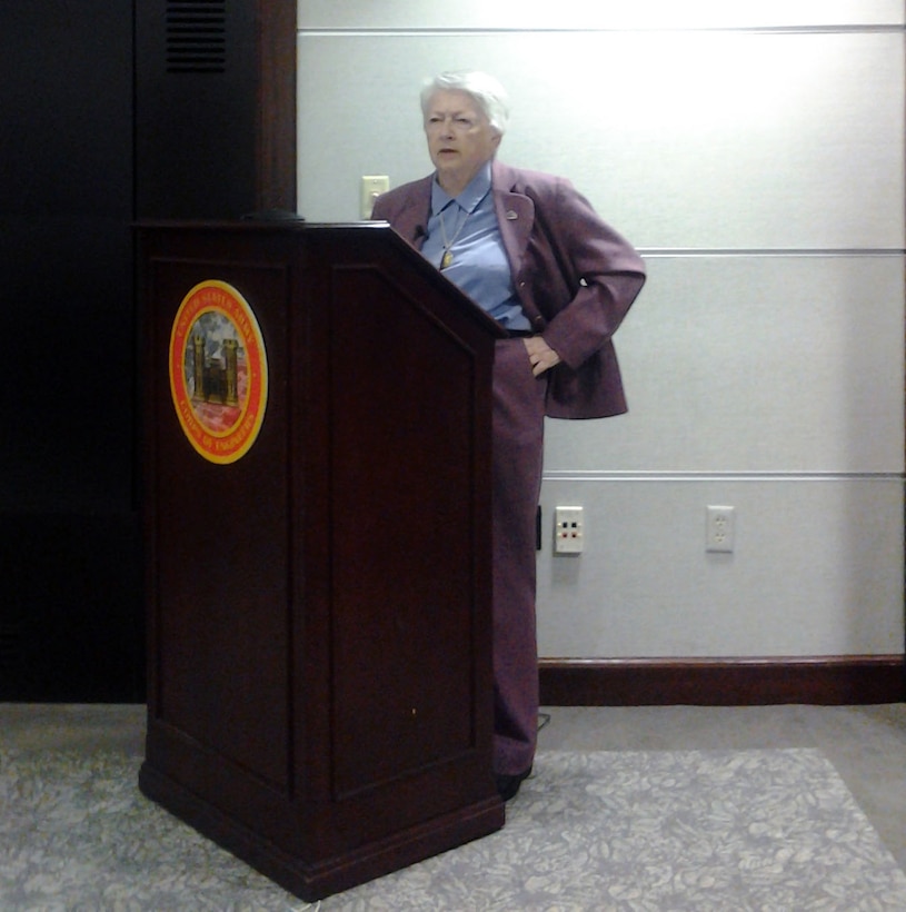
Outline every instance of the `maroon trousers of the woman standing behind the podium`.
{"type": "Polygon", "coordinates": [[[545,377],[521,339],[494,365],[494,771],[531,766],[538,732],[535,517],[544,459],[545,377]]]}

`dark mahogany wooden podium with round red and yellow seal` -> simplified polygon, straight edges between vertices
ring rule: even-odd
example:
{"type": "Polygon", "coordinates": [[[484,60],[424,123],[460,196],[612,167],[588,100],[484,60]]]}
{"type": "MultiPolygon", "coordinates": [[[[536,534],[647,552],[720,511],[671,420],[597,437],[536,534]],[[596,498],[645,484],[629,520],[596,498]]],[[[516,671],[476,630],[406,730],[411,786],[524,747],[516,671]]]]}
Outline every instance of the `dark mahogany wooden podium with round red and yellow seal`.
{"type": "Polygon", "coordinates": [[[307,901],[499,829],[504,331],[380,222],[138,237],[142,792],[307,901]]]}

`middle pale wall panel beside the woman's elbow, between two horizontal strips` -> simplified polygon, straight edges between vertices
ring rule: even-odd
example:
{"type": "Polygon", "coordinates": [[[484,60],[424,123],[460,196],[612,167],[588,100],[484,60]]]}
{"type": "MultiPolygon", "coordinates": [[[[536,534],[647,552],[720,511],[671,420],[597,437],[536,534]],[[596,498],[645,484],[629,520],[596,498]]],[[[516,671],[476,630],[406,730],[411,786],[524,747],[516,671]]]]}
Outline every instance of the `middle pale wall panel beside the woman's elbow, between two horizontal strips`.
{"type": "Polygon", "coordinates": [[[629,414],[548,423],[546,468],[898,473],[903,258],[649,256],[629,414]]]}

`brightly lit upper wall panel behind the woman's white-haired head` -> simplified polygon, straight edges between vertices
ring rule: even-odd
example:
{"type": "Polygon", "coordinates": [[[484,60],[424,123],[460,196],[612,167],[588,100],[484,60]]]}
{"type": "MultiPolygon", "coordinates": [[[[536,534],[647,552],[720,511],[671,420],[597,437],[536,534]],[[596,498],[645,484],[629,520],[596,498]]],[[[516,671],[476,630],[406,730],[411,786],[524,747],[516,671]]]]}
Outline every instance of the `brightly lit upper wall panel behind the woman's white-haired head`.
{"type": "Polygon", "coordinates": [[[476,66],[511,95],[501,158],[568,175],[637,246],[904,246],[896,31],[302,32],[299,60],[315,221],[358,218],[359,175],[427,174],[421,81],[476,66]]]}

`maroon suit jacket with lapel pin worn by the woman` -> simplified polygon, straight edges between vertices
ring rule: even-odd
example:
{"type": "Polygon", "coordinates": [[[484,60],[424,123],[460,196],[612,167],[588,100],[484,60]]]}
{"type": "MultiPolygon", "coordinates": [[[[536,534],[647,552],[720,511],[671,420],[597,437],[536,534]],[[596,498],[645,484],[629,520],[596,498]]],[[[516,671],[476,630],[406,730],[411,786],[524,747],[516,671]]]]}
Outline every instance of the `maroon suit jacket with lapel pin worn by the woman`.
{"type": "MultiPolygon", "coordinates": [[[[420,248],[434,175],[375,204],[420,248]]],[[[645,282],[635,249],[559,177],[494,161],[491,194],[512,284],[532,328],[561,363],[545,375],[551,418],[603,418],[626,412],[613,335],[645,282]]]]}

